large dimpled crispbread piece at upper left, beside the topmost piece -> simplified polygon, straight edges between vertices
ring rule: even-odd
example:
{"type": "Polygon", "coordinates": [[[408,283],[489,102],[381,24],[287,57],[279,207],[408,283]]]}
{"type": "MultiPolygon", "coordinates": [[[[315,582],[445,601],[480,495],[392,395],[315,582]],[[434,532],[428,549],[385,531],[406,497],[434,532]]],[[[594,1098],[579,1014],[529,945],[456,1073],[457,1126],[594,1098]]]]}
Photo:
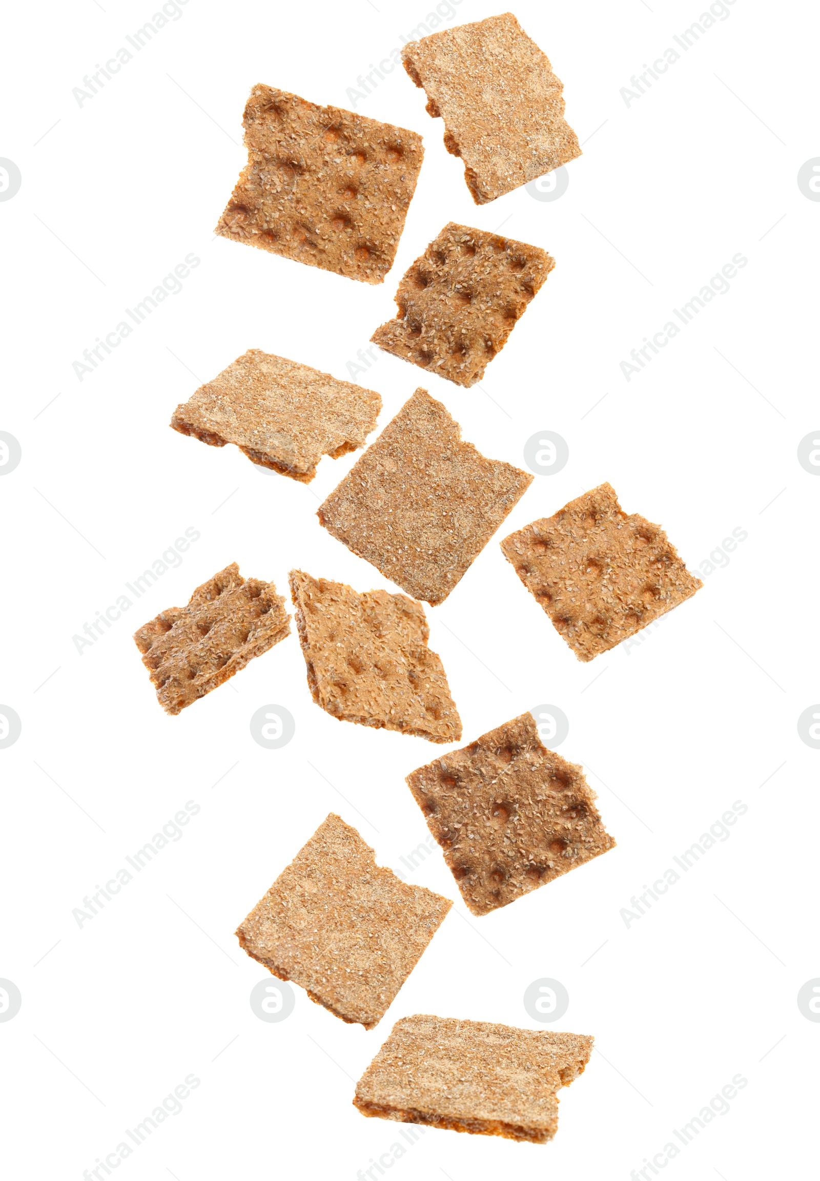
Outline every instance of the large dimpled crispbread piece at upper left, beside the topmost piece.
{"type": "Polygon", "coordinates": [[[242,122],[248,163],[215,233],[383,282],[422,167],[422,137],[262,85],[250,91],[242,122]]]}

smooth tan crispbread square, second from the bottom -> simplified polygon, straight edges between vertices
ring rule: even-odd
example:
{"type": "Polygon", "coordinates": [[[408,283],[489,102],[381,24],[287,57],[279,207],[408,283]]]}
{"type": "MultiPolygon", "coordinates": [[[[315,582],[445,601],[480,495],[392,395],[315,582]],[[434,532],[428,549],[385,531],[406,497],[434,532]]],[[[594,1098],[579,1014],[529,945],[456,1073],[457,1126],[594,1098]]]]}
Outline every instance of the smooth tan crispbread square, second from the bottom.
{"type": "Polygon", "coordinates": [[[331,813],[236,935],[280,980],[372,1029],[451,906],[377,866],[356,829],[331,813]]]}

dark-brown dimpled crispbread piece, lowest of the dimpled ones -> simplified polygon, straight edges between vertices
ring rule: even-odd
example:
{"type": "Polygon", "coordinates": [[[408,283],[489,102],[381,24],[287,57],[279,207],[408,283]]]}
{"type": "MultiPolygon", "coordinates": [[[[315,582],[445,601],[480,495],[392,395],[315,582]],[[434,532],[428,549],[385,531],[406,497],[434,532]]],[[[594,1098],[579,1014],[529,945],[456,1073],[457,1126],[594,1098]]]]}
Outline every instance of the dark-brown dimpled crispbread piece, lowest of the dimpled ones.
{"type": "Polygon", "coordinates": [[[406,782],[473,914],[507,906],[616,843],[581,768],[544,746],[532,713],[406,782]]]}

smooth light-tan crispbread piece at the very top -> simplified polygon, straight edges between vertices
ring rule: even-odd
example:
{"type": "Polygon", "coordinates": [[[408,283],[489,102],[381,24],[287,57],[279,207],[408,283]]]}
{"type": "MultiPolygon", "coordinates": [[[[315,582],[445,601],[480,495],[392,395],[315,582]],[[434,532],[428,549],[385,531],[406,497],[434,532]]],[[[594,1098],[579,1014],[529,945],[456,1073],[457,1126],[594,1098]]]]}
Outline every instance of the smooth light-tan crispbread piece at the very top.
{"type": "Polygon", "coordinates": [[[564,84],[512,12],[458,25],[402,51],[404,68],[444,119],[477,205],[581,155],[564,118],[564,84]]]}

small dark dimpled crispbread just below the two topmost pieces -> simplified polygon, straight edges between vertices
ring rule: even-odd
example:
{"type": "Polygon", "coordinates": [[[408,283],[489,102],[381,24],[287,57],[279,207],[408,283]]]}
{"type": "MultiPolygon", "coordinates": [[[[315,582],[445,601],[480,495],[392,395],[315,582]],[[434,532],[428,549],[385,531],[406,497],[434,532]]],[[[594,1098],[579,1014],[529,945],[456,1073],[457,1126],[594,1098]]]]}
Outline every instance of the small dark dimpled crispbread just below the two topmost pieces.
{"type": "Polygon", "coordinates": [[[469,387],[484,376],[554,266],[536,246],[448,222],[398,285],[395,319],[370,339],[469,387]]]}

